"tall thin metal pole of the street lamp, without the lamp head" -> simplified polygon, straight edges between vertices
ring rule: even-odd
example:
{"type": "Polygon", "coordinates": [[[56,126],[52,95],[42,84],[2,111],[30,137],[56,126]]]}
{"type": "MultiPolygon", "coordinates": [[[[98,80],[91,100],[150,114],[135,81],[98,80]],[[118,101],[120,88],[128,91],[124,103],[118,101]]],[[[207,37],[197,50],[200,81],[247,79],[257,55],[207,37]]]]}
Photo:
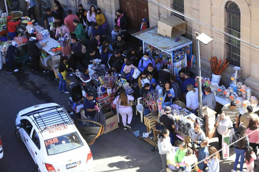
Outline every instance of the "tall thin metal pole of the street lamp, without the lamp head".
{"type": "Polygon", "coordinates": [[[197,62],[198,62],[198,101],[199,101],[199,117],[202,117],[202,94],[201,94],[201,56],[200,56],[200,41],[196,39],[197,43],[197,62]]]}

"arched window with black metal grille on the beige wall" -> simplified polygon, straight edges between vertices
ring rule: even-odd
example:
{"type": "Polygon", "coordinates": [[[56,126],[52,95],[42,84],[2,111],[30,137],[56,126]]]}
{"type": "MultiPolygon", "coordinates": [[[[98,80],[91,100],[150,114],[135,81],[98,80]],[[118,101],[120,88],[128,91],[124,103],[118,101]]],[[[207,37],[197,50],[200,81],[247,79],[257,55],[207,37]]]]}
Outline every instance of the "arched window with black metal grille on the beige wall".
{"type": "MultiPolygon", "coordinates": [[[[233,1],[228,1],[225,7],[227,15],[226,32],[237,38],[240,38],[240,9],[233,1]]],[[[240,66],[240,41],[226,36],[227,59],[230,64],[240,66]]]]}

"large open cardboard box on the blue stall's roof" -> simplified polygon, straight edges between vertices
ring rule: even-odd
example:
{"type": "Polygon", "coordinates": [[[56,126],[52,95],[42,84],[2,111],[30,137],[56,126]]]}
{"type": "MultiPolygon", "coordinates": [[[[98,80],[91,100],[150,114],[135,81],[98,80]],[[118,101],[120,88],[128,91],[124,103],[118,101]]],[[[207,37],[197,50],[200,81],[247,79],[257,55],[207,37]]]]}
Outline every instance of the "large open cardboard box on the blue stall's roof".
{"type": "Polygon", "coordinates": [[[174,38],[185,34],[186,23],[176,16],[170,16],[158,21],[157,33],[174,38]]]}

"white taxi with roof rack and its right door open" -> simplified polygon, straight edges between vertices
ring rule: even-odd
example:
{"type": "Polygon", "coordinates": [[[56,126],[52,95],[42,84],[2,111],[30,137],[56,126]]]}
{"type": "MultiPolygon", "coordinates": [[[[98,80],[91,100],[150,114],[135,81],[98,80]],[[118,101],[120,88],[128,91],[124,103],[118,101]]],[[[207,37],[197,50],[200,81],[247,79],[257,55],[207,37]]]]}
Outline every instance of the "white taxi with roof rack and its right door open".
{"type": "Polygon", "coordinates": [[[104,130],[95,121],[75,120],[74,124],[66,109],[56,103],[21,110],[15,125],[17,138],[25,143],[39,172],[91,171],[93,157],[88,144],[104,130]]]}

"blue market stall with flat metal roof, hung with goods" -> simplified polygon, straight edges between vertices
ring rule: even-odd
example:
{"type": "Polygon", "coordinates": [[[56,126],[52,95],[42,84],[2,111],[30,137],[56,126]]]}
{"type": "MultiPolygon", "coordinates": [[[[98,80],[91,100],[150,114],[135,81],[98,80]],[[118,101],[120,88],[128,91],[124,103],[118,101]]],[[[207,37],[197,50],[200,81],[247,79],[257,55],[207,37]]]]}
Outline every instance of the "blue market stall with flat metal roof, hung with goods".
{"type": "Polygon", "coordinates": [[[192,40],[183,36],[162,36],[157,33],[157,26],[132,35],[143,41],[143,52],[155,59],[157,70],[162,64],[167,64],[172,75],[176,76],[178,71],[187,67],[187,57],[192,56],[192,40]]]}

